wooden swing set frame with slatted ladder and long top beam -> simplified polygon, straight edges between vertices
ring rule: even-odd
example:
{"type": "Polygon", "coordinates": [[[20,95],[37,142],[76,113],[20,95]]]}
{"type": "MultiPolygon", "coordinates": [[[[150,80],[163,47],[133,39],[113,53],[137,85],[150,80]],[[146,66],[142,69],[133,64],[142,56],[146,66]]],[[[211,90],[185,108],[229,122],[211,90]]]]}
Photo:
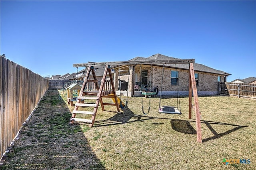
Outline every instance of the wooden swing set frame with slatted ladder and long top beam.
{"type": "MultiPolygon", "coordinates": [[[[74,110],[72,112],[72,117],[70,119],[70,124],[73,124],[74,121],[90,123],[89,127],[92,127],[96,118],[96,113],[98,106],[101,105],[102,110],[104,111],[104,105],[116,106],[117,112],[120,112],[120,98],[116,95],[115,85],[112,78],[112,73],[110,65],[157,65],[157,64],[179,64],[179,63],[189,63],[189,119],[192,118],[192,107],[196,113],[196,134],[197,141],[202,143],[202,133],[201,133],[201,122],[200,122],[200,111],[198,103],[198,95],[196,89],[196,80],[194,74],[194,59],[170,59],[170,60],[147,60],[147,61],[114,61],[114,62],[101,62],[101,63],[81,63],[73,64],[73,67],[87,67],[86,76],[84,77],[84,83],[80,90],[80,94],[77,97],[77,102],[75,104],[74,110]],[[105,71],[100,83],[98,86],[98,80],[94,72],[94,66],[105,66],[105,71]],[[92,79],[90,79],[90,74],[92,74],[92,79]],[[107,80],[107,74],[109,79],[107,80]],[[192,94],[194,95],[194,106],[192,105],[192,94]],[[102,98],[112,98],[114,103],[104,103],[102,98]],[[91,101],[95,100],[95,104],[92,104],[91,101]],[[86,102],[86,101],[90,101],[86,102]],[[93,107],[93,111],[79,111],[80,107],[93,107]],[[78,119],[76,114],[86,114],[91,115],[91,119],[78,119]]],[[[128,91],[127,91],[128,93],[128,91]]],[[[126,104],[127,105],[127,104],[126,104]]],[[[124,107],[124,105],[123,105],[124,107]]]]}

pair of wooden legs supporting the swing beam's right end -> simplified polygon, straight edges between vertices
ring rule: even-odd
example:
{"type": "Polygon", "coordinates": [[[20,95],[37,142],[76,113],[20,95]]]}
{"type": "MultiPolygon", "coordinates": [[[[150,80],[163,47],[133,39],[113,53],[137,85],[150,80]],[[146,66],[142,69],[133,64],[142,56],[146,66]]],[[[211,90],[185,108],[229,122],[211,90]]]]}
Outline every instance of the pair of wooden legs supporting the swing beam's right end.
{"type": "Polygon", "coordinates": [[[196,138],[197,142],[202,143],[202,132],[201,132],[201,120],[200,120],[200,110],[199,110],[199,103],[198,103],[198,96],[197,96],[197,89],[196,89],[196,79],[194,73],[194,66],[193,63],[189,64],[189,119],[191,119],[192,115],[192,90],[194,95],[194,110],[196,112],[196,138]]]}

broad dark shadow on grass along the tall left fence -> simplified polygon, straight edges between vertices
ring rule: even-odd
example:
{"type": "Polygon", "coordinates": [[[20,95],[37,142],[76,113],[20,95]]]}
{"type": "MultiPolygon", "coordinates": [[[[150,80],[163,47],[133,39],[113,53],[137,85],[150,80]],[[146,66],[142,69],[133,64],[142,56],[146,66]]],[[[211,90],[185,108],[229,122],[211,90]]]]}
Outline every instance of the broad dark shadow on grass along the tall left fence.
{"type": "Polygon", "coordinates": [[[79,125],[69,125],[71,117],[57,90],[48,90],[30,121],[22,127],[3,169],[90,169],[105,170],[92,151],[79,125]]]}

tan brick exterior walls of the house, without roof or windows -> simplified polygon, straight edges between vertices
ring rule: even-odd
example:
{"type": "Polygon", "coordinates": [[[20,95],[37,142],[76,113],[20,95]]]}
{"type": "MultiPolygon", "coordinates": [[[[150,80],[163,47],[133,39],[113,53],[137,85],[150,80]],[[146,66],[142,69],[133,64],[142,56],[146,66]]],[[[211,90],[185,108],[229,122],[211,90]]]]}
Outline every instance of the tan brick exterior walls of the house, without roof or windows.
{"type": "MultiPolygon", "coordinates": [[[[171,85],[171,71],[176,71],[175,68],[164,68],[164,79],[162,83],[162,71],[163,67],[141,67],[136,66],[134,74],[137,74],[137,80],[134,80],[134,83],[136,81],[141,80],[141,70],[148,70],[148,82],[151,80],[151,87],[148,87],[149,91],[153,91],[154,87],[158,86],[159,91],[161,90],[162,86],[162,95],[174,95],[177,91],[176,85],[171,85]],[[152,73],[151,73],[152,70],[152,73]],[[150,79],[151,77],[151,79],[150,79]],[[161,85],[162,84],[162,85],[161,85]]],[[[118,69],[116,70],[118,71],[118,69]]],[[[178,85],[178,91],[180,92],[180,95],[188,95],[188,70],[182,70],[177,69],[179,71],[179,85],[178,85]]],[[[217,95],[218,94],[218,76],[217,74],[212,73],[203,73],[196,71],[195,73],[199,74],[199,82],[197,85],[197,91],[198,95],[217,95]]],[[[130,74],[132,74],[132,69],[130,68],[130,74]]],[[[128,75],[128,71],[118,74],[116,79],[116,89],[118,89],[118,79],[128,81],[128,78],[130,78],[129,82],[129,91],[131,91],[132,83],[131,79],[132,76],[128,75]]],[[[222,79],[224,79],[224,76],[222,76],[222,79]]]]}

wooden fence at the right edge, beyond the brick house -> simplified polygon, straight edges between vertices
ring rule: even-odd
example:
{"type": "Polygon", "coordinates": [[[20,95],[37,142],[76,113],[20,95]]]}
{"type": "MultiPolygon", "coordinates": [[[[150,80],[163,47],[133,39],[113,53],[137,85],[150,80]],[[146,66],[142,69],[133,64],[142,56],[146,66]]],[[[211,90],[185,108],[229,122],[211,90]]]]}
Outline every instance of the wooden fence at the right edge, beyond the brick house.
{"type": "Polygon", "coordinates": [[[256,99],[256,84],[218,82],[219,94],[256,99]]]}

